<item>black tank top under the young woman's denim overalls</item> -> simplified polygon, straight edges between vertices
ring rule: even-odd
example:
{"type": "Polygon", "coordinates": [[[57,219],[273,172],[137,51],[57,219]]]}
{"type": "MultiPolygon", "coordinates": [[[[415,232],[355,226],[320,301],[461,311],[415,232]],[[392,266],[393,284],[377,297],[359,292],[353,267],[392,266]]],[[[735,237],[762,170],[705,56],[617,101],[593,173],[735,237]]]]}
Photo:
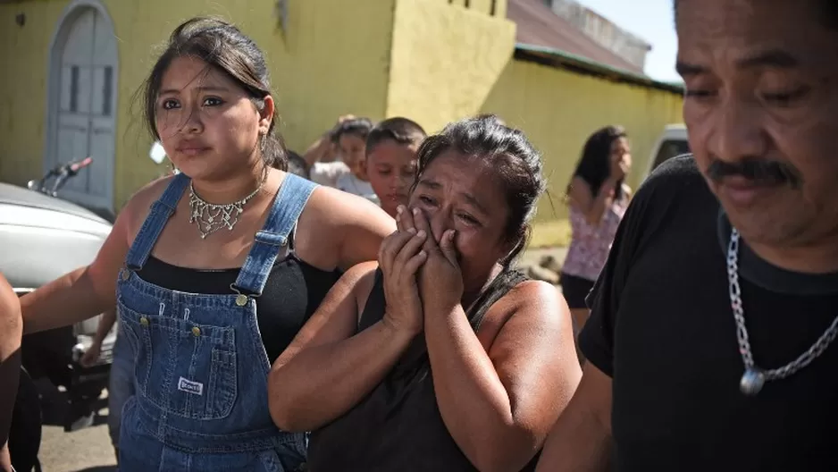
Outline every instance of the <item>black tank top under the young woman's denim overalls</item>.
{"type": "MultiPolygon", "coordinates": [[[[338,270],[326,272],[297,257],[293,236],[291,233],[288,257],[277,258],[262,295],[256,298],[256,321],[271,364],[288,348],[340,278],[338,270]]],[[[215,295],[231,293],[230,284],[236,282],[239,268],[197,270],[148,257],[137,275],[169,290],[215,295]]]]}

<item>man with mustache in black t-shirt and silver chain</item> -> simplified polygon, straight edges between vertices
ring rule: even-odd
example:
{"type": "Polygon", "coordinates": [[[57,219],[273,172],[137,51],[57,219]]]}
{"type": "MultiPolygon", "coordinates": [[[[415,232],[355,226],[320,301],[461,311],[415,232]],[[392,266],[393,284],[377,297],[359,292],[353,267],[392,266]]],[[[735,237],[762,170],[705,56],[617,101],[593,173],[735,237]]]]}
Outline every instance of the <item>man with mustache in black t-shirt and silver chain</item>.
{"type": "Polygon", "coordinates": [[[539,470],[838,470],[838,2],[675,3],[693,156],[624,216],[539,470]]]}

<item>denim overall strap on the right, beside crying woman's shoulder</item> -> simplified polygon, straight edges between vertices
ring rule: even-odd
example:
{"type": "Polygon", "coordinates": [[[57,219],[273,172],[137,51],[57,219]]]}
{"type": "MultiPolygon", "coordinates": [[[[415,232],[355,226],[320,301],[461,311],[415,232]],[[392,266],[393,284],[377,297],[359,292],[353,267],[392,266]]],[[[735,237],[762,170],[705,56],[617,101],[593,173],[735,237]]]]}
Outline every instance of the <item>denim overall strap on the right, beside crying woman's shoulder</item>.
{"type": "Polygon", "coordinates": [[[308,198],[316,188],[317,184],[312,181],[293,173],[285,174],[279,195],[273,200],[271,214],[262,230],[256,232],[256,239],[247,253],[245,264],[241,266],[239,278],[230,289],[251,297],[262,295],[281,247],[288,244],[289,235],[297,226],[299,215],[303,213],[308,198]]]}

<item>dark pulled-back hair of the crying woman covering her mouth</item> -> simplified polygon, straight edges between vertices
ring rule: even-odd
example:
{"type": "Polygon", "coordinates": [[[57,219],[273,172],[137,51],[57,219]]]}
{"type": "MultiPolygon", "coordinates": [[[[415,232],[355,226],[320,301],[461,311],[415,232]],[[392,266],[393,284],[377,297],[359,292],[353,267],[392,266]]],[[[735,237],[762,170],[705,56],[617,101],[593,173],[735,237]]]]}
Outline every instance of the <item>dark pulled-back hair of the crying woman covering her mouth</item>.
{"type": "Polygon", "coordinates": [[[530,220],[546,188],[541,175],[541,155],[523,131],[507,127],[495,115],[480,115],[450,123],[439,134],[423,141],[418,152],[416,182],[428,165],[448,150],[464,156],[478,156],[490,162],[506,187],[504,195],[507,197],[509,220],[504,237],[515,241],[515,247],[502,264],[511,265],[526,247],[531,232],[530,220]]]}

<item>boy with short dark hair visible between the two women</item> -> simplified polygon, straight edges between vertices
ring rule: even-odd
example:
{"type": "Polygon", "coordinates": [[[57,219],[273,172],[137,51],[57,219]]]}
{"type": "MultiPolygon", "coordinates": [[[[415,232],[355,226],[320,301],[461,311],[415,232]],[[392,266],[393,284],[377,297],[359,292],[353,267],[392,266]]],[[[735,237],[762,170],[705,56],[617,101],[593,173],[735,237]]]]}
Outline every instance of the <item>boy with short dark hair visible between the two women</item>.
{"type": "Polygon", "coordinates": [[[427,134],[418,123],[403,117],[378,123],[366,139],[366,176],[381,208],[396,217],[407,205],[416,177],[416,151],[427,134]]]}

